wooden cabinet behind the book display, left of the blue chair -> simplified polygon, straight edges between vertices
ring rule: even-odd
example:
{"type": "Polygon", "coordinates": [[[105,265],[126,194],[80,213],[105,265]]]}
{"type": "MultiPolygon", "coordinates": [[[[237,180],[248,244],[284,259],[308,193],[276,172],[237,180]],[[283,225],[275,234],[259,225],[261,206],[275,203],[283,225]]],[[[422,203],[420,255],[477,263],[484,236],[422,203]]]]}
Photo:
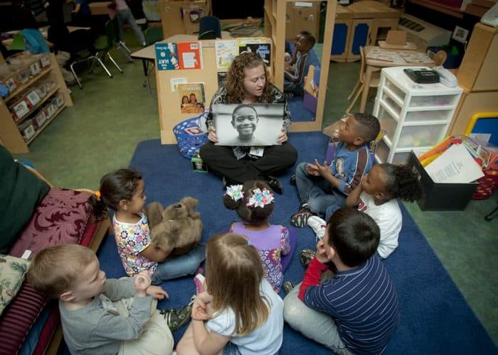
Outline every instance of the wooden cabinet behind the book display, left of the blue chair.
{"type": "Polygon", "coordinates": [[[160,0],[164,38],[172,35],[193,35],[199,31],[198,19],[211,14],[211,0],[160,0]]]}

